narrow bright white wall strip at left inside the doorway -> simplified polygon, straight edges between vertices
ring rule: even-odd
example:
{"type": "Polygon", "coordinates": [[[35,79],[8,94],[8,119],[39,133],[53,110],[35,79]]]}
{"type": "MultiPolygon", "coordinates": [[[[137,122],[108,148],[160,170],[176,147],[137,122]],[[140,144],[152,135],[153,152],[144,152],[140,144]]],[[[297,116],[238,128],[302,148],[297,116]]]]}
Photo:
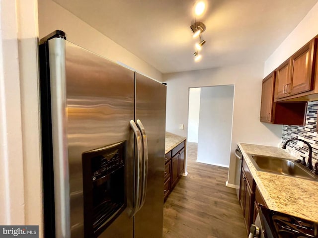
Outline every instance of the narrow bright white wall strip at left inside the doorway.
{"type": "Polygon", "coordinates": [[[188,141],[198,143],[201,88],[189,89],[188,141]]]}

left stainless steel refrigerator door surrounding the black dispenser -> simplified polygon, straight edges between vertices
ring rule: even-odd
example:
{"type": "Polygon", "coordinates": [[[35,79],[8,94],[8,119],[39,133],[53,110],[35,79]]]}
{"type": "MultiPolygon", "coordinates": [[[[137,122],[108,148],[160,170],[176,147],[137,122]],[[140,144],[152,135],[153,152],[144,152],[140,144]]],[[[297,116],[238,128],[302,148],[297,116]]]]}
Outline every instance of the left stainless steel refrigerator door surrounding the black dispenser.
{"type": "Polygon", "coordinates": [[[100,237],[132,238],[133,219],[129,218],[129,209],[134,187],[134,134],[130,129],[130,120],[134,119],[134,72],[63,39],[50,40],[49,50],[51,78],[53,74],[63,74],[54,62],[59,62],[56,59],[60,58],[63,61],[64,57],[66,78],[65,92],[59,85],[52,86],[52,90],[57,92],[56,99],[52,97],[52,117],[62,113],[59,116],[61,124],[52,124],[52,131],[56,130],[56,125],[64,128],[63,133],[61,131],[55,135],[56,139],[53,138],[56,141],[53,142],[54,163],[57,159],[55,144],[64,143],[65,146],[58,155],[63,160],[54,168],[56,175],[60,176],[54,180],[56,237],[68,238],[69,234],[65,232],[68,229],[72,238],[84,237],[82,170],[85,168],[82,168],[82,153],[127,141],[127,208],[100,237]],[[64,104],[60,103],[61,96],[64,104]],[[59,110],[54,110],[54,105],[59,110]],[[62,205],[63,202],[69,205],[61,206],[59,201],[62,205]],[[65,222],[67,220],[69,222],[65,222]]]}

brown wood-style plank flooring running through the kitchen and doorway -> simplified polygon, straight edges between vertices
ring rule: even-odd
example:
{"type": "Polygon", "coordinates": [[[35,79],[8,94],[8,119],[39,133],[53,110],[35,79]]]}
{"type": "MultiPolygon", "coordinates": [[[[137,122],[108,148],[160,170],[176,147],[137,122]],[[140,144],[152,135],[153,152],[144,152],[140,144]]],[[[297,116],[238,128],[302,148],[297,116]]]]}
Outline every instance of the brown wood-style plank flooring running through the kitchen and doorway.
{"type": "Polygon", "coordinates": [[[187,142],[187,177],[163,206],[163,238],[246,238],[234,188],[226,187],[228,169],[196,162],[197,143],[187,142]]]}

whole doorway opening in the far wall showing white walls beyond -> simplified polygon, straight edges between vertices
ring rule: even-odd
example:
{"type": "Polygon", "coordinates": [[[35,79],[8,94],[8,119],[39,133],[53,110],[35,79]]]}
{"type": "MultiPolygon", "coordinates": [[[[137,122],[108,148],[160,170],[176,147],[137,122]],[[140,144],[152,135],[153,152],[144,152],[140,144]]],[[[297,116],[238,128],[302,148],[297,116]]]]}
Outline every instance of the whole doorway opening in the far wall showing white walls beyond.
{"type": "Polygon", "coordinates": [[[189,88],[188,151],[197,162],[229,168],[234,85],[189,88]]]}

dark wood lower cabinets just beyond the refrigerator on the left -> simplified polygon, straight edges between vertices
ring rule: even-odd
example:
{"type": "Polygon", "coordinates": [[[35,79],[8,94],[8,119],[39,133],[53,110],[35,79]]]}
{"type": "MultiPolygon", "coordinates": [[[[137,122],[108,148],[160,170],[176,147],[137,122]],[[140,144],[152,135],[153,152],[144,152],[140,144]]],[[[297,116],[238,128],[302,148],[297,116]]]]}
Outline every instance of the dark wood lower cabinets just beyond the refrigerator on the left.
{"type": "Polygon", "coordinates": [[[172,150],[165,154],[163,189],[164,201],[167,199],[168,195],[184,173],[185,146],[186,141],[182,141],[180,144],[176,145],[174,148],[172,148],[172,150]]]}

